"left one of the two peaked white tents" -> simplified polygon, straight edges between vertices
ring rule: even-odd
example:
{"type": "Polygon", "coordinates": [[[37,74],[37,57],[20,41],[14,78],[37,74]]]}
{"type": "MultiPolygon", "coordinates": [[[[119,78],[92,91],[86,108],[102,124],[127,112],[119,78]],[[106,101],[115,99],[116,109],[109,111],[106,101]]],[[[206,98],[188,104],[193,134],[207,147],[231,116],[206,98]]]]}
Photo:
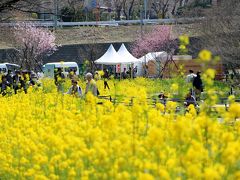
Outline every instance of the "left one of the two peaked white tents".
{"type": "Polygon", "coordinates": [[[122,58],[118,55],[113,45],[111,44],[102,57],[95,61],[96,64],[116,65],[122,62],[122,58]]]}

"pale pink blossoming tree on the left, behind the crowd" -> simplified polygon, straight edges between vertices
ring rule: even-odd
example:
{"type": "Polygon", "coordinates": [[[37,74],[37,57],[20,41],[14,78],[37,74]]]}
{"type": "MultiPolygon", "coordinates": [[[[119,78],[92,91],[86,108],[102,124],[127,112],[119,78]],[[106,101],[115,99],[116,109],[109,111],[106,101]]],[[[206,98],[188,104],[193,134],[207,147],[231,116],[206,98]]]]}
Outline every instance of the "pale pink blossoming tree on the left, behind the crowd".
{"type": "Polygon", "coordinates": [[[55,36],[44,28],[31,23],[17,24],[13,29],[17,62],[24,69],[37,70],[43,57],[57,50],[55,36]]]}

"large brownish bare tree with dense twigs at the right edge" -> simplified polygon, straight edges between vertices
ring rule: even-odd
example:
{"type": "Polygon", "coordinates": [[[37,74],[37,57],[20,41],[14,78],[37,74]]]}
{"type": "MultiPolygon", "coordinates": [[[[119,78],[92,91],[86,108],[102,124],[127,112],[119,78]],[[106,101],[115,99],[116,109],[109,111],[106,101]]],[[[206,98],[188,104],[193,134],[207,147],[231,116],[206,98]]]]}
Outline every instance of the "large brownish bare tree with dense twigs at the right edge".
{"type": "MultiPolygon", "coordinates": [[[[202,46],[220,55],[227,69],[235,75],[240,69],[240,1],[221,1],[206,13],[199,27],[202,46]]],[[[240,76],[238,76],[240,79],[240,76]]]]}

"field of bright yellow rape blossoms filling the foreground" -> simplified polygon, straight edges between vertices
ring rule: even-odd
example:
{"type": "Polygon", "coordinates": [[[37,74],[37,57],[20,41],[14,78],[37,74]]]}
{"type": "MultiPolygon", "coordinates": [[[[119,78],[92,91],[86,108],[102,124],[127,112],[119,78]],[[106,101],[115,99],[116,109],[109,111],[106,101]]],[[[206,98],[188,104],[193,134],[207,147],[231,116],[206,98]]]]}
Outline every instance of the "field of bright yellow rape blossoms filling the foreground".
{"type": "Polygon", "coordinates": [[[200,112],[176,113],[177,103],[147,97],[183,97],[184,79],[97,84],[122,103],[62,95],[52,80],[0,97],[0,179],[240,179],[239,103],[213,110],[216,89],[206,89],[200,112]]]}

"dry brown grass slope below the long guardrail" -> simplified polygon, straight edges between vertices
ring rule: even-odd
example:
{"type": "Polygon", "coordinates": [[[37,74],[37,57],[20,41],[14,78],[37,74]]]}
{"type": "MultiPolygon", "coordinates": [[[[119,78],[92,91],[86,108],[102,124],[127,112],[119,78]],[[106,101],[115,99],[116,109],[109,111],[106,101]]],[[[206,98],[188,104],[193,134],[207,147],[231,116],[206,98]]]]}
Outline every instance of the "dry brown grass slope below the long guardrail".
{"type": "MultiPolygon", "coordinates": [[[[142,33],[151,31],[156,25],[146,25],[142,27],[142,33]]],[[[173,25],[172,36],[177,38],[181,34],[194,36],[193,25],[173,25]]],[[[1,29],[0,49],[13,47],[9,31],[1,29]]],[[[141,36],[141,26],[129,25],[118,27],[71,27],[59,28],[55,32],[57,44],[92,44],[92,43],[113,43],[113,42],[133,42],[141,36]]]]}

